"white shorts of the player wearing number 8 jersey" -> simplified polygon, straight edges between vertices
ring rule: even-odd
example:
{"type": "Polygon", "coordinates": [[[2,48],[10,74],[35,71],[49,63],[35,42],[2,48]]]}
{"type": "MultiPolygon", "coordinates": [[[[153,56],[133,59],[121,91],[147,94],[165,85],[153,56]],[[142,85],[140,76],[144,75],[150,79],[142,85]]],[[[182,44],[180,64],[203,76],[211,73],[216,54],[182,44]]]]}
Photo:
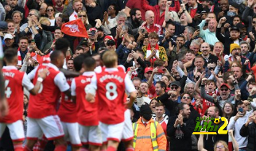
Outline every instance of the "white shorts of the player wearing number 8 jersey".
{"type": "Polygon", "coordinates": [[[100,130],[103,132],[103,143],[107,141],[120,141],[122,138],[122,132],[125,122],[120,122],[118,124],[104,124],[99,122],[100,130]]]}

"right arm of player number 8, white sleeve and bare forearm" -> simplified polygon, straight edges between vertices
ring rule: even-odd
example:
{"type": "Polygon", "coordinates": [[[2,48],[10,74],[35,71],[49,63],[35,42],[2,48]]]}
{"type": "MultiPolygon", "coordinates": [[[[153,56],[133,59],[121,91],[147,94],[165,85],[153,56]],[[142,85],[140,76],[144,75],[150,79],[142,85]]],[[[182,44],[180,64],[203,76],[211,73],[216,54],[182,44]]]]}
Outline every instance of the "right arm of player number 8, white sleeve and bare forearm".
{"type": "Polygon", "coordinates": [[[134,87],[133,82],[130,80],[129,75],[125,78],[126,91],[130,94],[130,101],[126,103],[127,108],[133,106],[134,100],[137,97],[137,91],[134,87]]]}

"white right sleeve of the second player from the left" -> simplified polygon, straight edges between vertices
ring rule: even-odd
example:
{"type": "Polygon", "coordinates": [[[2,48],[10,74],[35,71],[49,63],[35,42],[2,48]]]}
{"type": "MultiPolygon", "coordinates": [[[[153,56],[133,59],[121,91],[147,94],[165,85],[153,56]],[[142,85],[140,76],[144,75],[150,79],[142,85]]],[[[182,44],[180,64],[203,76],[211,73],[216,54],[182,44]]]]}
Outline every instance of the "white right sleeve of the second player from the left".
{"type": "Polygon", "coordinates": [[[56,84],[57,87],[59,87],[61,92],[67,91],[70,88],[67,83],[67,79],[62,72],[58,73],[55,76],[54,83],[56,84]]]}

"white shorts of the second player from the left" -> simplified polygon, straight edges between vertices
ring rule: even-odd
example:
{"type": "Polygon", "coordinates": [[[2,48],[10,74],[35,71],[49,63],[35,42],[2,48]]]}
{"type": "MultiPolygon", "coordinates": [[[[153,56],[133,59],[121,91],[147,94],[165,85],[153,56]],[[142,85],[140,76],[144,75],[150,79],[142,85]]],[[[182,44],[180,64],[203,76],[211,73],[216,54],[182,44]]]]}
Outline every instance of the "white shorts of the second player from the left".
{"type": "Polygon", "coordinates": [[[64,130],[58,115],[50,115],[45,118],[28,118],[27,139],[37,140],[45,134],[48,140],[56,140],[64,137],[64,130]]]}

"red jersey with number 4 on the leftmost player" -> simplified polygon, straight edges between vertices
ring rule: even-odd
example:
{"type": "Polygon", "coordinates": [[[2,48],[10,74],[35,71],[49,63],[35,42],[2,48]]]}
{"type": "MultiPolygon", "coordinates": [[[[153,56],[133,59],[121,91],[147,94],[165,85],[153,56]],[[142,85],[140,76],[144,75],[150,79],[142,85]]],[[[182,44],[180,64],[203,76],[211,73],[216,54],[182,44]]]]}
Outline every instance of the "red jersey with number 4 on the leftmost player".
{"type": "Polygon", "coordinates": [[[3,67],[2,75],[6,79],[5,92],[9,113],[4,118],[0,118],[0,122],[13,123],[22,119],[23,87],[30,91],[34,86],[25,72],[20,72],[15,66],[3,67]]]}

